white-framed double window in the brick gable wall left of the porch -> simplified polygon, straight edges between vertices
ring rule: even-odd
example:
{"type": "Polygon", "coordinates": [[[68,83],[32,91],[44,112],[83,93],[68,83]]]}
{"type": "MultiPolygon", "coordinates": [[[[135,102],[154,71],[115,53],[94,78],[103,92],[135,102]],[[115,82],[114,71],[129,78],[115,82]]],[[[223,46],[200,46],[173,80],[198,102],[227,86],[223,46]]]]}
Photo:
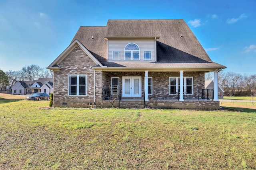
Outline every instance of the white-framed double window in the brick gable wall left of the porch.
{"type": "Polygon", "coordinates": [[[68,95],[86,96],[87,95],[87,75],[68,76],[68,95]]]}

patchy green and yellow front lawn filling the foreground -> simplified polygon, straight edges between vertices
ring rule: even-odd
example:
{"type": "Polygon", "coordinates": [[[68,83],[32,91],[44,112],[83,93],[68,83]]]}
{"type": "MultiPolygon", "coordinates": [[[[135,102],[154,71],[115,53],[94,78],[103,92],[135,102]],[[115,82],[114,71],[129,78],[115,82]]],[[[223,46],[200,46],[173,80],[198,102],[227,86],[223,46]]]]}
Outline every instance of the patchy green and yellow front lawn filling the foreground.
{"type": "Polygon", "coordinates": [[[0,169],[256,169],[255,112],[44,110],[49,101],[6,100],[0,169]]]}

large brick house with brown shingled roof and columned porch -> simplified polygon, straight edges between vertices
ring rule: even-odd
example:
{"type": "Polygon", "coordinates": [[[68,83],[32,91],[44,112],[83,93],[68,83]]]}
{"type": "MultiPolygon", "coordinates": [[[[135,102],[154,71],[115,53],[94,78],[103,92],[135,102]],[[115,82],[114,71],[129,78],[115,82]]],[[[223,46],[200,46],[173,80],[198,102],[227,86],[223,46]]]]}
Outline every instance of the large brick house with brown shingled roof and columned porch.
{"type": "Polygon", "coordinates": [[[196,109],[219,109],[217,97],[204,95],[204,73],[214,72],[217,83],[223,68],[184,20],[108,20],[106,26],[80,27],[48,66],[54,71],[54,107],[110,106],[108,100],[118,95],[115,107],[196,109]]]}

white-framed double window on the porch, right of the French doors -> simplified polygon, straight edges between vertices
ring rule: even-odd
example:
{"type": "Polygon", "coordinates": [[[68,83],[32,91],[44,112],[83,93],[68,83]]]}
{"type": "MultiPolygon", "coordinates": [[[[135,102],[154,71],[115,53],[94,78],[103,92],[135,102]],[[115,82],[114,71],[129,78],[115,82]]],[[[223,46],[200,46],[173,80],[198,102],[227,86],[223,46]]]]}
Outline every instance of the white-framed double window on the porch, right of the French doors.
{"type": "MultiPolygon", "coordinates": [[[[184,77],[183,92],[193,94],[193,77],[184,77]]],[[[169,94],[180,92],[180,77],[169,77],[169,94]]]]}

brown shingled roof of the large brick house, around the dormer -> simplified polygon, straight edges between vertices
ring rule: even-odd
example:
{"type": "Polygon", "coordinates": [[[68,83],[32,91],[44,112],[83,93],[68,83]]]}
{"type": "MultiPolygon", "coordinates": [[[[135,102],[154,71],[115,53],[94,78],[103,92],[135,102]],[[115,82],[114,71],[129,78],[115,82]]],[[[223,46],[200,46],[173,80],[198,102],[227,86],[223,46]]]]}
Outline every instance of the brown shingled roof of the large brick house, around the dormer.
{"type": "Polygon", "coordinates": [[[210,59],[184,20],[108,20],[102,27],[81,26],[70,45],[75,41],[108,68],[226,68],[210,59]],[[155,37],[157,62],[108,62],[111,37],[155,37]]]}

